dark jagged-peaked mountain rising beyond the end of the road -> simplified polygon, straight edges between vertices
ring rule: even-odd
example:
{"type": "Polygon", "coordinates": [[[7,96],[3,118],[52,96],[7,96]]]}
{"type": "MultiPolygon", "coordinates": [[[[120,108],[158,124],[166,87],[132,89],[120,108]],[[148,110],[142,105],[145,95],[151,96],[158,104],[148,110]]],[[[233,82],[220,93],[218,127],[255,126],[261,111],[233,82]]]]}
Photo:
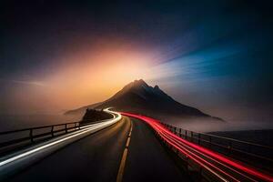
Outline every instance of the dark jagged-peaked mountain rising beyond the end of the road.
{"type": "Polygon", "coordinates": [[[155,116],[157,114],[183,117],[201,116],[220,120],[217,117],[201,112],[197,108],[178,103],[162,91],[159,86],[148,86],[142,79],[135,80],[124,86],[116,95],[104,102],[67,111],[66,114],[83,114],[88,107],[105,108],[109,106],[113,106],[116,111],[134,112],[147,116],[155,116]]]}

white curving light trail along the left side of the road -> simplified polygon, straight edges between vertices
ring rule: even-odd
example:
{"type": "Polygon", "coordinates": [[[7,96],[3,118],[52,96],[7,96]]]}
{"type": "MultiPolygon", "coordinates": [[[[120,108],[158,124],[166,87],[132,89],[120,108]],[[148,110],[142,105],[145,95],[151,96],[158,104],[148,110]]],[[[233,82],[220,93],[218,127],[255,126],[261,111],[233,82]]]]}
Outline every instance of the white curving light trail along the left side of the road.
{"type": "MultiPolygon", "coordinates": [[[[111,115],[114,116],[114,118],[112,119],[107,119],[107,120],[104,120],[100,123],[96,123],[96,124],[91,124],[91,125],[88,125],[88,126],[81,126],[81,129],[78,130],[78,131],[75,131],[71,134],[67,134],[66,136],[59,136],[55,139],[52,139],[50,140],[49,142],[46,142],[44,145],[39,145],[35,148],[31,148],[27,151],[24,151],[18,155],[15,155],[13,157],[7,157],[5,158],[5,160],[2,160],[0,162],[0,167],[4,167],[5,165],[9,164],[9,163],[12,163],[12,162],[15,162],[19,159],[22,159],[24,157],[28,157],[30,155],[34,155],[35,153],[37,152],[40,152],[42,150],[44,150],[45,148],[48,148],[48,147],[53,147],[53,146],[56,146],[57,144],[60,144],[60,143],[63,143],[71,138],[74,138],[76,136],[82,136],[84,134],[87,134],[87,133],[92,133],[94,131],[97,131],[97,130],[100,130],[100,129],[103,129],[103,128],[106,128],[106,126],[111,126],[113,124],[115,124],[117,121],[119,121],[121,119],[121,115],[119,113],[116,113],[114,111],[110,111],[109,109],[105,109],[106,112],[110,113],[111,115]]],[[[1,169],[1,168],[0,168],[1,169]]]]}

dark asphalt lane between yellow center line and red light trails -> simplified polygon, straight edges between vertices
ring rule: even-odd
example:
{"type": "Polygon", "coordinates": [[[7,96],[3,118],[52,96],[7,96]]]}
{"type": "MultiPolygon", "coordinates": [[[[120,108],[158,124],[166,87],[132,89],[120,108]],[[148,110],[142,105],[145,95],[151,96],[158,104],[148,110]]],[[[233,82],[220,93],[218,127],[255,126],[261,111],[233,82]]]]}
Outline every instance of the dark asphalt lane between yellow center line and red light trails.
{"type": "Polygon", "coordinates": [[[152,129],[131,118],[133,130],[123,181],[190,181],[159,143],[152,129]]]}

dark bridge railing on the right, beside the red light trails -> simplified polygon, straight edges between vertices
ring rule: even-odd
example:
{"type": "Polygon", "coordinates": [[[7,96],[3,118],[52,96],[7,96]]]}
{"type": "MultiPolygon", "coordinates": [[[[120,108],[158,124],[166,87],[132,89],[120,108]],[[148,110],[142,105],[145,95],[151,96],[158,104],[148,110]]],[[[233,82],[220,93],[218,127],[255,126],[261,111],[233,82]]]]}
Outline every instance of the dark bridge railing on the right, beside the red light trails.
{"type": "Polygon", "coordinates": [[[270,173],[273,172],[273,147],[225,136],[216,136],[190,131],[166,123],[161,124],[166,126],[177,136],[180,136],[187,141],[210,148],[227,157],[235,158],[251,166],[264,169],[270,173]]]}

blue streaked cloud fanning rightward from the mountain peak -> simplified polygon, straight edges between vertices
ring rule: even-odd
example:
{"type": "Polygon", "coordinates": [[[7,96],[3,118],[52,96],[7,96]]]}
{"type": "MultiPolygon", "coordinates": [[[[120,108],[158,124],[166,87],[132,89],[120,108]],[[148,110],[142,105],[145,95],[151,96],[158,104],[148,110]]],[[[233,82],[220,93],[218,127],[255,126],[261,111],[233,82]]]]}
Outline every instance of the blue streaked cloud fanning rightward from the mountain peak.
{"type": "Polygon", "coordinates": [[[238,66],[236,64],[238,60],[234,61],[233,59],[238,54],[241,54],[242,51],[243,48],[240,48],[238,45],[197,51],[147,69],[146,77],[151,80],[176,78],[180,81],[181,79],[188,81],[188,79],[195,80],[200,77],[203,79],[228,75],[234,69],[234,66],[238,66]]]}

